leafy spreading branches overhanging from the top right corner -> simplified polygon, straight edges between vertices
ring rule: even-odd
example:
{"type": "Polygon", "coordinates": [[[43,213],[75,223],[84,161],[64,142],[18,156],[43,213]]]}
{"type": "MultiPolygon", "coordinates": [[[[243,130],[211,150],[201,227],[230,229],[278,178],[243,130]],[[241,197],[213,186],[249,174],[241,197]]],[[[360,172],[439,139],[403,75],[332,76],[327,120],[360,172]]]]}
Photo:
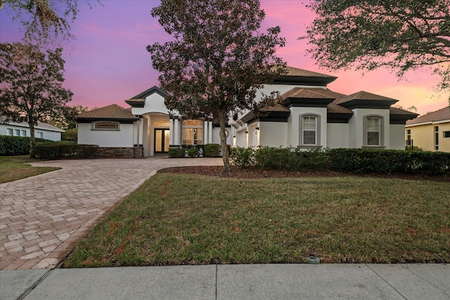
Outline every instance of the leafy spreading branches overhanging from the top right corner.
{"type": "Polygon", "coordinates": [[[450,84],[450,0],[314,0],[309,53],[329,69],[430,66],[450,84]]]}

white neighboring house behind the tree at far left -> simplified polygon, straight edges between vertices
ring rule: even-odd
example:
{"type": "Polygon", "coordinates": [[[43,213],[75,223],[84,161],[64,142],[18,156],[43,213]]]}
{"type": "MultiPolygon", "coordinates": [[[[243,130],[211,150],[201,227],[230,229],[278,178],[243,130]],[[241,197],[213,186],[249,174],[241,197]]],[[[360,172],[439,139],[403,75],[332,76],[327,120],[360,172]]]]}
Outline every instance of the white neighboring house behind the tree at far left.
{"type": "MultiPolygon", "coordinates": [[[[63,129],[42,122],[37,122],[37,125],[34,126],[35,138],[61,141],[63,132],[65,132],[63,129]]],[[[8,122],[6,124],[0,122],[0,136],[30,136],[30,126],[27,122],[8,122]]]]}

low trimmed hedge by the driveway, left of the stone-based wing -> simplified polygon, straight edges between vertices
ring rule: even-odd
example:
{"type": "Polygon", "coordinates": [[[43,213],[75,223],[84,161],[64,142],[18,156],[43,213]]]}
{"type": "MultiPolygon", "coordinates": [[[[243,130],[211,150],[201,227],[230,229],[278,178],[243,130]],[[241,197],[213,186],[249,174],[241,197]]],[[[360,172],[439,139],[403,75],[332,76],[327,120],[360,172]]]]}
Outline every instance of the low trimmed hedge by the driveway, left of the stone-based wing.
{"type": "Polygon", "coordinates": [[[36,145],[34,151],[40,159],[94,158],[98,145],[53,143],[36,145]]]}

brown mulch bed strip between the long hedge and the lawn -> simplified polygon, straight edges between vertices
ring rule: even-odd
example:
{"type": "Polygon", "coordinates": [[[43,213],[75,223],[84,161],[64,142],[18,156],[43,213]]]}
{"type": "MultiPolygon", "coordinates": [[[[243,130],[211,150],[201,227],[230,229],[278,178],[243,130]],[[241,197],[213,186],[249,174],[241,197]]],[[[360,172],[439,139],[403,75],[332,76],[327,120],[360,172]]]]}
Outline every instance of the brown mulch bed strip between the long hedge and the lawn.
{"type": "MultiPolygon", "coordinates": [[[[257,168],[240,169],[231,167],[231,174],[221,174],[223,167],[173,167],[162,169],[158,173],[175,173],[175,174],[196,174],[203,176],[217,176],[224,178],[286,178],[286,177],[333,177],[333,176],[349,176],[354,174],[343,174],[335,171],[280,171],[266,170],[257,168]]],[[[356,176],[380,177],[380,178],[401,178],[409,180],[428,180],[450,183],[450,176],[418,176],[418,175],[399,175],[399,174],[364,174],[356,176]]]]}

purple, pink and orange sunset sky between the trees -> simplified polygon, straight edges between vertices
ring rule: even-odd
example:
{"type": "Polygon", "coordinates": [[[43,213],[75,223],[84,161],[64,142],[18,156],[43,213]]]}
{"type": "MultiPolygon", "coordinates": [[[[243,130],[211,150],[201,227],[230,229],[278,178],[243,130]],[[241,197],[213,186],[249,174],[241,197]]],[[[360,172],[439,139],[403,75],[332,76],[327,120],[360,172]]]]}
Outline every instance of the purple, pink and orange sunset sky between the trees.
{"type": "MultiPolygon", "coordinates": [[[[94,2],[94,1],[92,1],[94,2]]],[[[399,100],[404,108],[416,106],[425,114],[448,106],[448,95],[434,89],[439,77],[423,68],[406,73],[406,80],[395,77],[390,70],[373,72],[354,70],[329,71],[320,69],[306,55],[307,41],[297,38],[305,32],[314,15],[303,1],[262,0],[266,12],[264,27],[281,26],[286,46],[278,55],[293,67],[337,76],[328,87],[339,93],[368,91],[399,100]]],[[[69,105],[103,107],[117,103],[127,107],[124,100],[158,86],[158,72],[153,70],[146,46],[170,37],[162,30],[150,10],[159,1],[101,0],[90,9],[79,1],[79,15],[72,24],[77,39],[65,47],[65,84],[74,96],[69,105]]],[[[0,41],[19,41],[23,36],[18,22],[11,20],[8,4],[0,11],[0,41]]]]}

